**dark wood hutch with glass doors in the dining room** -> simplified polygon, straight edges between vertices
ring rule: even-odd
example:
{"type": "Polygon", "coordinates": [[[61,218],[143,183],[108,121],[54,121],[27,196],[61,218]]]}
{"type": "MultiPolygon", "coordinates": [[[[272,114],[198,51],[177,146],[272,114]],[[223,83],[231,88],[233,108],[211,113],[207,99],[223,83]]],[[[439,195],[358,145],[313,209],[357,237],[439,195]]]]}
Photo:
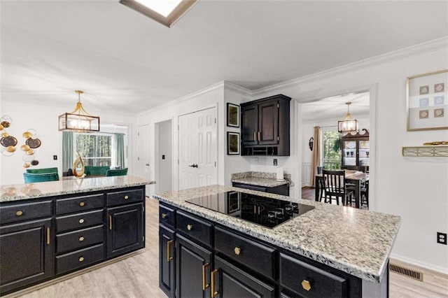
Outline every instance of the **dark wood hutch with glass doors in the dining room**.
{"type": "Polygon", "coordinates": [[[363,129],[363,134],[346,134],[341,138],[342,169],[369,169],[370,142],[369,132],[363,129]]]}

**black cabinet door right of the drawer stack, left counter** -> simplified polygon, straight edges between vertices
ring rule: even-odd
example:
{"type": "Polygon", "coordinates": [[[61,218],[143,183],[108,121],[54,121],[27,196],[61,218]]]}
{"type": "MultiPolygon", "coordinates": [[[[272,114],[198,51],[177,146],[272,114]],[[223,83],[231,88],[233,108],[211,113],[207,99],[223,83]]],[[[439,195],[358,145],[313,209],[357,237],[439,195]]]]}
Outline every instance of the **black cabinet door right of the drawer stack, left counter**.
{"type": "Polygon", "coordinates": [[[144,248],[143,204],[107,208],[107,258],[144,248]]]}

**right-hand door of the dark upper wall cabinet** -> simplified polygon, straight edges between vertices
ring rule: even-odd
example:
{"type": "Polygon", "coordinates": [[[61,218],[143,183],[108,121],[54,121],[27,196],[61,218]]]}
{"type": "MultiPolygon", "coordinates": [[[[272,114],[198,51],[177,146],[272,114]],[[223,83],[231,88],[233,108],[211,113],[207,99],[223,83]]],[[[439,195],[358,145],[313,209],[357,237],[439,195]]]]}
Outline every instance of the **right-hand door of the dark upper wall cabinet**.
{"type": "Polygon", "coordinates": [[[279,143],[278,101],[271,100],[258,106],[258,144],[276,145],[279,143]]]}

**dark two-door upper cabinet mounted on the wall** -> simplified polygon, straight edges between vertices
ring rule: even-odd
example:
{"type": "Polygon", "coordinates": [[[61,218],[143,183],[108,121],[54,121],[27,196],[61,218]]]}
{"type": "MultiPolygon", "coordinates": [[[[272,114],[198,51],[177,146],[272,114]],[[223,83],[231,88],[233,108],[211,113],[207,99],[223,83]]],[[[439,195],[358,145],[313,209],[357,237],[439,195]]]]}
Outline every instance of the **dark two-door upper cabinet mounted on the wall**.
{"type": "Polygon", "coordinates": [[[290,97],[241,104],[241,155],[289,155],[290,97]]]}

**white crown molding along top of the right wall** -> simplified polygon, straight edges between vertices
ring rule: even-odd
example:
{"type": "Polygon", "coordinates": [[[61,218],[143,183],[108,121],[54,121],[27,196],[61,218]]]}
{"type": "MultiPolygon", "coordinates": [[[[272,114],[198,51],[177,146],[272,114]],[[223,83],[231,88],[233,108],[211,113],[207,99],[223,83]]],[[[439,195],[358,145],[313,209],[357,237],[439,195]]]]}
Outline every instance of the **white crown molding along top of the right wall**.
{"type": "Polygon", "coordinates": [[[433,41],[427,41],[425,43],[419,43],[417,45],[412,45],[407,48],[395,50],[393,52],[387,52],[386,54],[370,57],[350,64],[345,64],[339,67],[335,67],[334,69],[328,69],[326,71],[313,73],[309,76],[302,76],[300,78],[295,78],[293,80],[287,80],[283,83],[262,87],[258,90],[254,90],[252,94],[256,96],[257,94],[262,94],[265,92],[274,92],[276,90],[283,90],[287,87],[294,87],[295,85],[298,84],[303,84],[316,80],[322,80],[324,78],[328,78],[331,76],[340,75],[341,73],[348,73],[351,71],[366,69],[368,67],[386,64],[388,62],[398,61],[408,57],[425,55],[430,52],[435,52],[437,50],[443,50],[447,48],[448,48],[448,36],[444,36],[442,38],[437,38],[433,41]]]}

